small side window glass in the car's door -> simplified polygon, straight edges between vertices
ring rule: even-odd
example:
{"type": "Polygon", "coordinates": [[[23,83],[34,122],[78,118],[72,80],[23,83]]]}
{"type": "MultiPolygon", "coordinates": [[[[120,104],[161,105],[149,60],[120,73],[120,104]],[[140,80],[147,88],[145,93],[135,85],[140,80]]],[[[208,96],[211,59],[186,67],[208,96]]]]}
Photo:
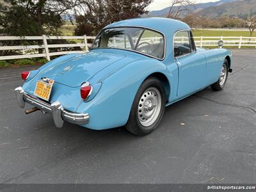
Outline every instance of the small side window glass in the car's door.
{"type": "Polygon", "coordinates": [[[191,52],[189,31],[178,31],[173,38],[174,56],[182,56],[191,52]]]}

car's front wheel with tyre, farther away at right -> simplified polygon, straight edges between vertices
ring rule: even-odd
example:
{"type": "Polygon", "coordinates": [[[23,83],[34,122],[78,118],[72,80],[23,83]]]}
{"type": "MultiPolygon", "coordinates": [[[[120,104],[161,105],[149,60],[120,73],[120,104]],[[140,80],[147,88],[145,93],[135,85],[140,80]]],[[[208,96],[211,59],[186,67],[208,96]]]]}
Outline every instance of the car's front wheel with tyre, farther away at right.
{"type": "Polygon", "coordinates": [[[223,90],[225,84],[227,83],[228,79],[228,61],[225,60],[220,72],[220,77],[218,81],[211,85],[212,90],[214,91],[220,91],[223,90]]]}

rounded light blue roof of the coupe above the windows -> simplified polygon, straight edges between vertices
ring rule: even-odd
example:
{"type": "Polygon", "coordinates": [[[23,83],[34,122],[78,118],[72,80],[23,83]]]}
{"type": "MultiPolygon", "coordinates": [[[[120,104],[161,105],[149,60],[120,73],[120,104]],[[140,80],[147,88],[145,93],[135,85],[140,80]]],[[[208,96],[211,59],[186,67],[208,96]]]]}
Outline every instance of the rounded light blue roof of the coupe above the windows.
{"type": "Polygon", "coordinates": [[[175,33],[175,31],[182,29],[190,30],[188,24],[181,22],[180,20],[168,19],[163,17],[147,17],[120,20],[118,22],[113,22],[112,24],[109,24],[105,28],[116,28],[122,26],[136,26],[156,29],[157,31],[161,31],[162,33],[164,33],[164,35],[171,35],[171,33],[173,34],[175,33]]]}

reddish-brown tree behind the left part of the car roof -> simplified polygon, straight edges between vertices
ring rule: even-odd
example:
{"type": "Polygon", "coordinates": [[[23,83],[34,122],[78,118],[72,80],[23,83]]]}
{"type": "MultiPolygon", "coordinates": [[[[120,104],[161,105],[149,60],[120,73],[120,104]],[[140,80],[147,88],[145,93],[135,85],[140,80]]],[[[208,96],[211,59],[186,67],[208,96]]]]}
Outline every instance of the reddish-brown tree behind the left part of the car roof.
{"type": "Polygon", "coordinates": [[[76,35],[96,35],[100,29],[118,20],[140,17],[153,0],[85,0],[77,11],[76,35]],[[83,13],[81,14],[81,10],[83,13]],[[92,28],[90,28],[92,26],[92,28]]]}

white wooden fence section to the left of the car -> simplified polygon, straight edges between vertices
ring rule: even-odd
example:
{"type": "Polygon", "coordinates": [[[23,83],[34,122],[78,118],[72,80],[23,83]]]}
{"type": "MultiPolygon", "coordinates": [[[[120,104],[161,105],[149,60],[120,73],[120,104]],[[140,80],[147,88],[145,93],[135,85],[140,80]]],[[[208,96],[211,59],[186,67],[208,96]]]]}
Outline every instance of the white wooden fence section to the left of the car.
{"type": "Polygon", "coordinates": [[[68,54],[74,52],[88,51],[88,46],[91,44],[87,43],[88,39],[93,39],[94,36],[0,36],[0,51],[4,50],[20,50],[19,55],[13,56],[0,56],[0,60],[14,60],[21,58],[40,58],[45,57],[50,61],[50,56],[57,56],[61,54],[68,54]],[[41,45],[17,45],[17,46],[1,46],[3,40],[42,40],[41,45]],[[81,40],[82,43],[77,44],[48,44],[47,40],[81,40]],[[61,52],[50,52],[49,48],[60,48],[60,47],[81,47],[84,51],[61,51],[61,52]],[[28,50],[34,50],[29,52],[28,50]],[[35,49],[44,49],[43,53],[38,53],[35,49]],[[26,52],[27,51],[27,52],[26,52]]]}

